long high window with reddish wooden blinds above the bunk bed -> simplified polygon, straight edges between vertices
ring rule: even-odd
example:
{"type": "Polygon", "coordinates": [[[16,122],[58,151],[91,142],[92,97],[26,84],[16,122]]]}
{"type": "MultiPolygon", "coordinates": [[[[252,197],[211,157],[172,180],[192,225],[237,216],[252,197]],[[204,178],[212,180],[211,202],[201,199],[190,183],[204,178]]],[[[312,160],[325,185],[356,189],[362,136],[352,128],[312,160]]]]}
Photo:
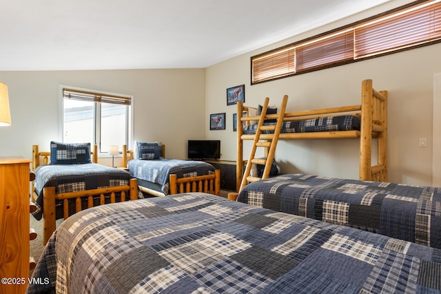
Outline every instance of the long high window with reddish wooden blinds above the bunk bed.
{"type": "Polygon", "coordinates": [[[407,6],[252,56],[252,85],[441,41],[441,0],[407,6]]]}

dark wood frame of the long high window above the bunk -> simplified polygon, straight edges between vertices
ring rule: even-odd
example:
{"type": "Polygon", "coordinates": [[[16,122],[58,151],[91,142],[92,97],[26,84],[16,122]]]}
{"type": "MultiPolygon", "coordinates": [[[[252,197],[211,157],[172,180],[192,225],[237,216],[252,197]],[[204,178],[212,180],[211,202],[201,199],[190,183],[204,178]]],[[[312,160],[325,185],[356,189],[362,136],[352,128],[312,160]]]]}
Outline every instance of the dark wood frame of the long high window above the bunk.
{"type": "MultiPolygon", "coordinates": [[[[432,4],[435,4],[435,5],[438,5],[438,6],[441,5],[440,0],[418,0],[418,1],[413,1],[411,3],[408,3],[408,4],[404,5],[404,6],[400,6],[398,8],[393,8],[391,10],[387,10],[386,12],[382,12],[380,14],[373,15],[372,17],[367,17],[366,19],[362,19],[360,21],[349,23],[348,25],[344,25],[344,26],[342,26],[340,28],[336,28],[334,30],[329,30],[329,31],[323,32],[321,34],[317,34],[315,36],[311,36],[311,37],[309,37],[307,39],[302,39],[300,41],[296,41],[294,43],[289,43],[289,44],[284,45],[282,47],[275,48],[273,50],[269,50],[267,52],[263,52],[263,53],[251,56],[251,58],[250,58],[250,79],[251,79],[251,85],[257,85],[259,83],[266,83],[266,82],[269,82],[269,81],[275,81],[275,80],[278,80],[280,78],[287,78],[289,76],[296,76],[298,74],[306,74],[308,72],[314,72],[314,71],[317,71],[317,70],[325,70],[325,69],[330,68],[330,67],[336,67],[336,66],[340,66],[340,65],[349,64],[349,63],[355,63],[355,62],[358,62],[358,61],[364,61],[364,60],[367,60],[367,59],[373,59],[373,58],[377,58],[377,57],[388,55],[388,54],[394,54],[394,53],[398,53],[398,52],[402,52],[402,51],[406,51],[406,50],[411,50],[411,49],[421,48],[421,47],[428,46],[428,45],[433,45],[435,43],[440,43],[441,42],[441,38],[435,39],[435,40],[432,40],[432,41],[425,41],[424,43],[417,43],[415,45],[407,45],[406,47],[403,47],[403,48],[387,50],[387,51],[384,51],[384,52],[378,52],[376,54],[367,54],[366,56],[357,56],[356,55],[356,49],[357,49],[356,42],[357,42],[357,39],[356,39],[355,34],[356,34],[356,30],[358,30],[358,28],[360,26],[365,25],[367,23],[371,23],[373,21],[376,21],[376,20],[379,20],[379,19],[382,19],[382,18],[386,18],[389,15],[396,14],[396,13],[398,13],[400,11],[409,10],[410,8],[413,8],[413,7],[425,6],[425,5],[431,6],[432,4]],[[296,58],[297,58],[296,57],[297,53],[295,52],[296,48],[300,48],[303,45],[308,44],[308,43],[314,43],[314,42],[320,41],[321,39],[327,39],[327,38],[329,38],[329,36],[340,34],[342,32],[349,31],[349,30],[353,30],[353,35],[354,35],[353,36],[353,44],[354,44],[354,47],[353,47],[353,57],[351,59],[346,59],[346,60],[342,59],[342,60],[335,61],[335,62],[332,62],[332,63],[323,63],[321,65],[316,65],[314,67],[307,67],[307,68],[301,69],[301,70],[298,70],[297,65],[294,64],[294,70],[291,71],[291,72],[287,72],[285,74],[278,74],[277,76],[271,76],[270,78],[261,79],[261,80],[256,81],[255,76],[254,76],[255,75],[254,74],[254,72],[255,72],[254,71],[254,61],[256,61],[258,59],[263,59],[267,55],[276,54],[277,52],[282,52],[283,50],[287,50],[287,48],[294,48],[294,60],[296,60],[296,58]]],[[[440,9],[438,8],[437,12],[439,12],[439,10],[440,9]]],[[[267,75],[269,75],[269,74],[267,74],[267,75]]]]}

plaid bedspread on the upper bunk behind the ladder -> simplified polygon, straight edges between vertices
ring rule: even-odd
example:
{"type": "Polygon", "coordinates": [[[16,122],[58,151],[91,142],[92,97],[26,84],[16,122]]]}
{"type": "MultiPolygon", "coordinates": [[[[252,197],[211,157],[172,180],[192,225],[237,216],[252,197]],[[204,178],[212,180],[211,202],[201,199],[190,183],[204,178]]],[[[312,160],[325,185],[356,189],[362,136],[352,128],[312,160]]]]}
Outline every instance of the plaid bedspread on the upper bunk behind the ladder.
{"type": "MultiPolygon", "coordinates": [[[[264,125],[276,125],[276,123],[264,123],[264,125]]],[[[333,132],[333,131],[360,131],[359,116],[330,116],[326,118],[314,118],[309,120],[287,121],[280,129],[281,133],[307,133],[307,132],[333,132]]],[[[247,125],[243,128],[244,134],[256,134],[257,124],[247,125]]],[[[269,134],[273,131],[263,131],[269,134]]]]}

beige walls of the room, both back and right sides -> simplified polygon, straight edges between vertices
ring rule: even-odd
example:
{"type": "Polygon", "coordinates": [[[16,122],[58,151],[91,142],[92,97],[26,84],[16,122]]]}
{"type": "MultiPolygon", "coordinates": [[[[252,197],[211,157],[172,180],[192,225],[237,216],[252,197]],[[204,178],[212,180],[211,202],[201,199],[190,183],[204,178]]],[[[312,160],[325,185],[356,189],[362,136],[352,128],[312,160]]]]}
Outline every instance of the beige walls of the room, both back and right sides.
{"type": "MultiPolygon", "coordinates": [[[[33,144],[61,140],[59,85],[134,96],[134,139],[161,140],[167,157],[186,158],[187,140],[220,139],[223,160],[236,160],[234,105],[226,89],[245,84],[245,101],[279,105],[289,95],[287,111],[353,105],[360,101],[360,82],[372,78],[378,90],[389,90],[389,180],[431,185],[433,74],[441,73],[441,44],[377,59],[250,85],[249,58],[280,45],[338,28],[410,1],[388,3],[311,30],[286,41],[249,52],[207,69],[0,72],[10,92],[12,125],[0,128],[0,155],[31,157],[33,144]],[[226,112],[225,130],[209,131],[209,114],[226,112]],[[185,127],[183,127],[185,126],[185,127]],[[427,147],[418,147],[427,138],[427,147]]],[[[358,178],[357,140],[296,140],[278,145],[281,171],[358,178]]],[[[107,162],[108,163],[108,162],[107,162]]],[[[440,164],[435,162],[435,164],[440,164]]]]}

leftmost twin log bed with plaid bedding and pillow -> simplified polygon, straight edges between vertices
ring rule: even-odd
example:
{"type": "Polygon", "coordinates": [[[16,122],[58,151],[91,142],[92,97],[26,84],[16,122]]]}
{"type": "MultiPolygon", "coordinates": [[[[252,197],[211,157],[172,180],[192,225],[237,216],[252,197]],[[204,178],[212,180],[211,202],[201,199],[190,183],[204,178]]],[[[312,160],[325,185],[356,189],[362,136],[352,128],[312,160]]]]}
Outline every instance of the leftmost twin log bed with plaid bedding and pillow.
{"type": "Polygon", "coordinates": [[[32,215],[43,219],[43,245],[59,218],[96,205],[142,197],[129,172],[97,164],[97,147],[92,148],[90,143],[51,142],[50,151],[32,146],[32,215]]]}

